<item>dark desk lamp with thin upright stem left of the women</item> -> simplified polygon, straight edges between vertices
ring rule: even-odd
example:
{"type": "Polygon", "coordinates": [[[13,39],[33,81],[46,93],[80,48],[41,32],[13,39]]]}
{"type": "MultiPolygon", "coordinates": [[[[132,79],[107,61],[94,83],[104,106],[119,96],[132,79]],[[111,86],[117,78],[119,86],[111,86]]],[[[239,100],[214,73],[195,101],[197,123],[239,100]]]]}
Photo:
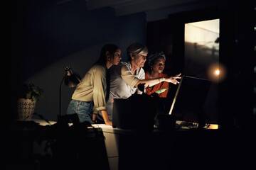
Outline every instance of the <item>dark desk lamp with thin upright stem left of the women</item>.
{"type": "Polygon", "coordinates": [[[63,85],[63,81],[65,82],[65,85],[68,87],[75,87],[81,81],[80,76],[78,74],[73,73],[72,69],[70,67],[65,67],[65,72],[66,72],[66,74],[63,77],[61,84],[60,84],[60,105],[59,105],[60,113],[59,113],[58,119],[61,117],[61,87],[63,85]]]}

